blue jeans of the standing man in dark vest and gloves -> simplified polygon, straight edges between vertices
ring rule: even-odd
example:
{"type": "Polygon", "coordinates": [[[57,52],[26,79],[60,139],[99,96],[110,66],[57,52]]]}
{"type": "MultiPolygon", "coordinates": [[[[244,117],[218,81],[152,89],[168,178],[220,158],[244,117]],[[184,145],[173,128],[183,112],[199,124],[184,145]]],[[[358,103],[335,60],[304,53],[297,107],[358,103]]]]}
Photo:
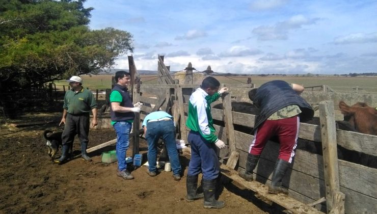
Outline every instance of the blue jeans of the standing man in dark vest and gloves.
{"type": "Polygon", "coordinates": [[[117,158],[118,170],[123,171],[127,169],[126,152],[129,147],[129,132],[131,131],[132,123],[117,122],[114,124],[115,132],[117,133],[117,158]]]}

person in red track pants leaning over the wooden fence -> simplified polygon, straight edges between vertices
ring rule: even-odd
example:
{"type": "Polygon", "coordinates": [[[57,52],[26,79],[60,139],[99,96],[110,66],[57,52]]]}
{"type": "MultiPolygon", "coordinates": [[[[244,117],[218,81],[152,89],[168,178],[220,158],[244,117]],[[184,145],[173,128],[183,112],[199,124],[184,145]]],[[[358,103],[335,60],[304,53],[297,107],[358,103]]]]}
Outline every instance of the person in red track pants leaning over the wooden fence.
{"type": "Polygon", "coordinates": [[[288,193],[282,180],[295,154],[300,121],[311,120],[314,115],[311,105],[299,95],[303,91],[304,87],[300,85],[279,80],[249,91],[249,98],[260,109],[260,114],[255,117],[254,140],[249,148],[246,170],[240,171],[239,176],[247,181],[253,180],[253,170],[265,144],[271,137],[278,136],[279,157],[268,186],[271,194],[288,193]]]}

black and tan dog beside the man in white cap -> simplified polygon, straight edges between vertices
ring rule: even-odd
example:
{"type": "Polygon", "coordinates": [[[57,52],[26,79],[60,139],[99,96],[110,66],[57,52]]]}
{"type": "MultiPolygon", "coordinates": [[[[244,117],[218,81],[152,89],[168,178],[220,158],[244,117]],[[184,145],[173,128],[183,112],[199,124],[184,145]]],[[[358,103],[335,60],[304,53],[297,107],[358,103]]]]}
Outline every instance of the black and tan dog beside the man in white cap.
{"type": "MultiPolygon", "coordinates": [[[[47,153],[51,157],[51,162],[55,158],[56,153],[59,151],[59,146],[62,145],[62,133],[63,131],[53,132],[52,130],[46,129],[43,131],[43,137],[47,140],[47,153]]],[[[69,147],[69,154],[72,154],[73,143],[69,147]]]]}

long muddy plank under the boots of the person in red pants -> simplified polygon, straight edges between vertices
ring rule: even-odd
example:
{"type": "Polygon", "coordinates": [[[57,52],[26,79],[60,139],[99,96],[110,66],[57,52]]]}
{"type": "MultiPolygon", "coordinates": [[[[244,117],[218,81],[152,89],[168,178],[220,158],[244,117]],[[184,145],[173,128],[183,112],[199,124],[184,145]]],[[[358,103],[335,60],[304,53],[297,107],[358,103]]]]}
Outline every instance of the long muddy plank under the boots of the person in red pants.
{"type": "Polygon", "coordinates": [[[237,183],[244,185],[246,188],[252,190],[253,192],[262,195],[266,199],[285,207],[293,213],[322,213],[317,209],[306,206],[304,203],[299,202],[291,197],[287,197],[281,194],[268,194],[265,185],[256,181],[245,181],[243,178],[238,176],[237,171],[230,169],[225,165],[221,165],[221,173],[236,181],[237,183]]]}

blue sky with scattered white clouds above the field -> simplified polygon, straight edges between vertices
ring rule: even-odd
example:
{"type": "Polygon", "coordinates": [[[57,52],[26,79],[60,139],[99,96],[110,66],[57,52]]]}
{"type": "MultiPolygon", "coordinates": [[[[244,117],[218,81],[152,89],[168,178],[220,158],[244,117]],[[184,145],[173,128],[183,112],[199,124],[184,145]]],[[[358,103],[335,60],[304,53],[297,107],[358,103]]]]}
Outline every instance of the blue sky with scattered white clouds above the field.
{"type": "MultiPolygon", "coordinates": [[[[133,35],[138,70],[377,72],[377,1],[88,0],[90,28],[133,35]]],[[[131,53],[128,53],[129,55],[131,53]]],[[[127,56],[115,68],[128,69],[127,56]]]]}

